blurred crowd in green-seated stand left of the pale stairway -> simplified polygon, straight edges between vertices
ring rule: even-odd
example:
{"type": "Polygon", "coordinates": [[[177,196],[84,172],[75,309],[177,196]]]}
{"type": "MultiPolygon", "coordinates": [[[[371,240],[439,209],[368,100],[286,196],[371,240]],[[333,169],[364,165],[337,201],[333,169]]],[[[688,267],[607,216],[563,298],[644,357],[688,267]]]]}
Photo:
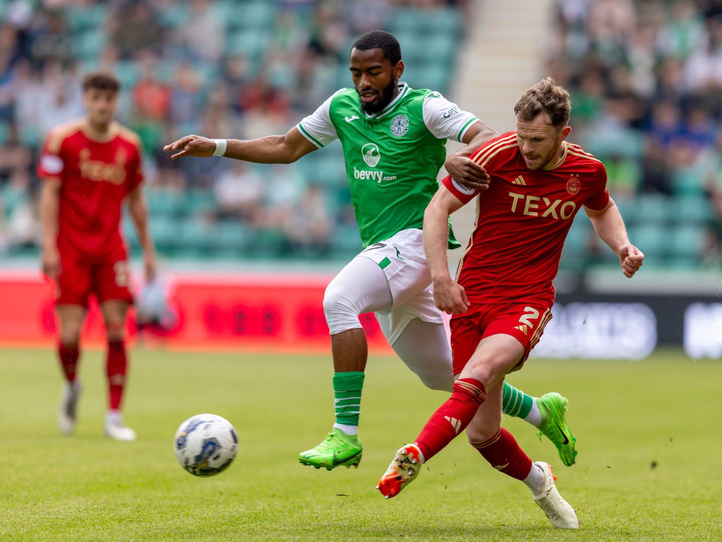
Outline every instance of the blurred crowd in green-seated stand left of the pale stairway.
{"type": "MultiPolygon", "coordinates": [[[[98,67],[120,77],[118,118],[142,138],[161,254],[355,254],[360,238],[339,144],[292,166],[172,162],[162,145],[190,133],[285,133],[350,85],[350,44],[379,27],[412,39],[409,32],[427,30],[435,53],[406,48],[404,56],[424,83],[406,80],[445,90],[461,26],[458,4],[440,0],[0,0],[0,20],[5,257],[37,249],[38,148],[48,129],[82,115],[79,79],[98,67]]],[[[133,228],[126,231],[134,241],[133,228]]]]}

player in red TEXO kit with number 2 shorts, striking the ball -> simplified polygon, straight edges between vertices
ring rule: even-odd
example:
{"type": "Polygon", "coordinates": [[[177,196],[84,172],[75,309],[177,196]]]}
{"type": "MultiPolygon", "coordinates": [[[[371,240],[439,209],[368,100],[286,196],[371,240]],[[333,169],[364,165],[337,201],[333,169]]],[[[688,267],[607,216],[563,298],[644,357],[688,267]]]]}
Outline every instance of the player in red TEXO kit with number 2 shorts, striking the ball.
{"type": "Polygon", "coordinates": [[[630,244],[625,224],[606,191],[604,165],[566,141],[569,94],[544,79],[516,103],[516,132],[473,153],[471,162],[491,176],[484,192],[450,176],[428,205],[424,249],[436,306],[453,314],[451,349],[456,383],[413,444],[396,452],[378,489],[396,496],[420,466],[466,429],[469,443],[491,465],[531,489],[536,504],[557,528],[578,528],[574,509],[557,491],[549,464],[532,463],[501,427],[504,377],[521,369],[552,318],[554,285],[564,240],[584,208],[599,238],[631,278],[644,254],[630,244]],[[478,197],[477,197],[478,196],[478,197]],[[448,216],[477,199],[477,222],[459,263],[448,272],[448,216]]]}

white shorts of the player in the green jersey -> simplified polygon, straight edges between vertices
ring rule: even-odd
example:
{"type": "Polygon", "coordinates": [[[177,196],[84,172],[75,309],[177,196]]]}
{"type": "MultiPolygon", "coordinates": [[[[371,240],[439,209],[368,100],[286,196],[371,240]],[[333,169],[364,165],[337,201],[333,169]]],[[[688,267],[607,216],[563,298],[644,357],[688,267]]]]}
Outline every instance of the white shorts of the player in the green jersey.
{"type": "Polygon", "coordinates": [[[388,344],[393,346],[414,318],[443,324],[443,316],[431,293],[431,272],[426,264],[421,230],[399,231],[385,241],[368,246],[357,258],[376,262],[388,280],[393,305],[374,313],[388,344]]]}

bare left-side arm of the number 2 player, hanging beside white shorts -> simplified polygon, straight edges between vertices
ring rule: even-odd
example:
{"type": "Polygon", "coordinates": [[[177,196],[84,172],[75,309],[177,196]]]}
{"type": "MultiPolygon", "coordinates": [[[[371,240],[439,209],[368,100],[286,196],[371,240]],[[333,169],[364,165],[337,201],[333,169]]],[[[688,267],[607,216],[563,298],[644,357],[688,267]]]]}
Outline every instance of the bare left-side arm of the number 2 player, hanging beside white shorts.
{"type": "Polygon", "coordinates": [[[469,306],[464,287],[449,275],[446,257],[448,218],[463,205],[445,186],[440,186],[424,212],[424,251],[434,286],[434,301],[448,314],[466,312],[469,306]]]}

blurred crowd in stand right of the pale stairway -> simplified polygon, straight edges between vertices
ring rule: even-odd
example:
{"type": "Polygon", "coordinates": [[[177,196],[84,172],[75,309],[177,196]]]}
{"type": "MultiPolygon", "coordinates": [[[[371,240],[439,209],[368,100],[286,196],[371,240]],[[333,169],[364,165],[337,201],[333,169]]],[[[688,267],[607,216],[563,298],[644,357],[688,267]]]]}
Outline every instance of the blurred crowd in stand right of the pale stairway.
{"type": "MultiPolygon", "coordinates": [[[[558,0],[548,71],[645,263],[718,267],[722,1],[558,0]]],[[[593,238],[575,231],[570,248],[593,238]]],[[[598,250],[609,257],[592,246],[592,260],[598,250]]]]}

